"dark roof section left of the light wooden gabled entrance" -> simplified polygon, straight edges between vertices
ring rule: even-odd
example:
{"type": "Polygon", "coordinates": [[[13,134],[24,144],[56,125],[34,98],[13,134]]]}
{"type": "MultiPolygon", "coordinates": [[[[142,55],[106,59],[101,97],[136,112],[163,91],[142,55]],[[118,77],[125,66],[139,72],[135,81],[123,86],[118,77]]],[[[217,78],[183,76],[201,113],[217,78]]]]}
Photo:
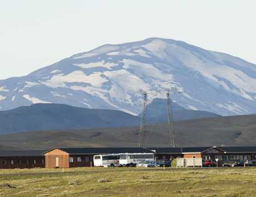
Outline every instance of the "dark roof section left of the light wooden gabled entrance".
{"type": "Polygon", "coordinates": [[[47,150],[0,150],[0,156],[43,156],[47,150]]]}

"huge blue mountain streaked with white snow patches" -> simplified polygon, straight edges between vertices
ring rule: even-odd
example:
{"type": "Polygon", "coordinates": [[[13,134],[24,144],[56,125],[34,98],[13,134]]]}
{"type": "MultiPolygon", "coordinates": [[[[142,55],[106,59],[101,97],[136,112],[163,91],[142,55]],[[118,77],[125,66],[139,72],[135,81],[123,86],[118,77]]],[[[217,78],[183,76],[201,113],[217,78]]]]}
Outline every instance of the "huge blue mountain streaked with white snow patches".
{"type": "MultiPolygon", "coordinates": [[[[22,66],[22,65],[19,65],[22,66]]],[[[35,103],[141,112],[165,98],[184,108],[221,115],[256,112],[256,65],[172,39],[106,44],[28,74],[0,80],[0,108],[35,103]]]]}

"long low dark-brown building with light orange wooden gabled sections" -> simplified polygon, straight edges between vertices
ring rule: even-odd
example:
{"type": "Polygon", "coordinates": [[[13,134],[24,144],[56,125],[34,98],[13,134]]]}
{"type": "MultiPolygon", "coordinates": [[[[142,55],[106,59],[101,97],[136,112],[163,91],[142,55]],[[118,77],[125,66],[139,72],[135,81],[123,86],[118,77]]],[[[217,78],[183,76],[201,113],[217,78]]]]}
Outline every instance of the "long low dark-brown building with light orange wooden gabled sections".
{"type": "Polygon", "coordinates": [[[179,148],[55,148],[52,150],[0,151],[0,169],[74,168],[93,166],[93,156],[119,153],[154,153],[156,160],[202,158],[213,160],[256,160],[256,147],[179,148]]]}

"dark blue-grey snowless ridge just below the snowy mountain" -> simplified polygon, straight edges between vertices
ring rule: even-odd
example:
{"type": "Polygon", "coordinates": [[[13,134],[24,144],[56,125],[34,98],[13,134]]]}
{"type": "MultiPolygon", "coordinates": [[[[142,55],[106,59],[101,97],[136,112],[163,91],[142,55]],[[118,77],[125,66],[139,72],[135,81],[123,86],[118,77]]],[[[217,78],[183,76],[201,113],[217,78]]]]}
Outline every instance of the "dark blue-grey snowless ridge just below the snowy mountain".
{"type": "MultiPolygon", "coordinates": [[[[155,103],[155,107],[162,107],[155,103]]],[[[151,105],[153,105],[152,103],[151,105]]],[[[167,108],[154,115],[149,105],[148,124],[166,122],[167,108]]],[[[219,117],[217,114],[186,110],[174,104],[174,120],[219,117]]],[[[43,130],[71,130],[89,128],[131,127],[140,124],[140,117],[119,110],[88,109],[65,104],[33,104],[0,111],[0,134],[43,130]]]]}

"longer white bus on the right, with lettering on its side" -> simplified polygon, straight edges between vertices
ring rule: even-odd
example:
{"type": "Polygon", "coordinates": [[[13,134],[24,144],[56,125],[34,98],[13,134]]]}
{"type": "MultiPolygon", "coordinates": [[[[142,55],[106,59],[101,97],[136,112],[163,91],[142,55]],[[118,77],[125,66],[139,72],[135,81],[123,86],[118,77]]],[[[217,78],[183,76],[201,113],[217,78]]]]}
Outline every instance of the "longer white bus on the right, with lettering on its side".
{"type": "Polygon", "coordinates": [[[154,153],[124,153],[120,154],[119,165],[136,166],[142,161],[154,161],[154,153]]]}

